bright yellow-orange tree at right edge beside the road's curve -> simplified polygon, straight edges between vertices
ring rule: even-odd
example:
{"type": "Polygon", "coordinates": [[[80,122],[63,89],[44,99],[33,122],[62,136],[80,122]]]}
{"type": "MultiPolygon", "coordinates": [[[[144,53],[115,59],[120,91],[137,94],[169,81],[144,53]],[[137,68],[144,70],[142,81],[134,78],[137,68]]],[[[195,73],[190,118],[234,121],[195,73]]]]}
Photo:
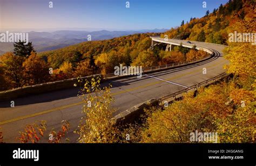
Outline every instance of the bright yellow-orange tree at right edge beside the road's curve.
{"type": "MultiPolygon", "coordinates": [[[[253,15],[253,12],[248,13],[244,19],[236,21],[229,30],[230,33],[234,33],[234,31],[242,33],[255,32],[255,15],[253,15]]],[[[254,77],[255,79],[255,47],[252,43],[228,42],[224,56],[230,61],[230,64],[225,66],[227,72],[240,77],[254,77]]]]}

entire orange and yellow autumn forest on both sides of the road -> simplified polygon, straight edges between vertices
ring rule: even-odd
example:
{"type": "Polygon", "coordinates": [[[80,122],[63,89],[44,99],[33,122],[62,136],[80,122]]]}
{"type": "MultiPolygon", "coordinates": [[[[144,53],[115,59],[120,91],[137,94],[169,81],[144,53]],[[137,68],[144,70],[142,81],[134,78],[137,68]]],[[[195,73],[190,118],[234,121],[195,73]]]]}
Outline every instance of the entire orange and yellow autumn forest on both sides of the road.
{"type": "MultiPolygon", "coordinates": [[[[187,93],[182,100],[174,101],[168,107],[150,107],[138,121],[126,126],[114,126],[111,122],[114,113],[111,86],[100,89],[100,78],[85,82],[82,90],[84,95],[98,93],[101,96],[88,95],[83,99],[84,103],[92,101],[97,106],[83,108],[86,119],[80,121],[76,130],[78,142],[184,143],[190,142],[189,134],[198,129],[218,132],[219,143],[255,143],[255,45],[228,41],[228,34],[234,31],[255,33],[255,20],[253,0],[233,0],[211,12],[207,11],[202,18],[191,18],[186,23],[181,20],[180,26],[165,33],[86,41],[47,52],[37,52],[31,43],[25,46],[17,42],[14,52],[0,56],[0,90],[74,77],[79,79],[93,74],[110,74],[114,72],[114,66],[119,64],[152,67],[201,60],[208,56],[203,50],[181,46],[171,51],[165,51],[162,45],[151,49],[151,36],[164,38],[167,35],[169,39],[226,45],[224,57],[230,61],[229,65],[224,66],[229,74],[227,79],[200,88],[196,95],[187,93]],[[52,73],[49,73],[49,69],[52,69],[52,73]],[[243,106],[241,101],[244,101],[243,106]],[[96,125],[95,121],[101,125],[96,125]],[[126,133],[130,133],[129,141],[123,139],[126,133]]],[[[55,132],[57,139],[51,142],[61,142],[69,129],[68,122],[63,122],[63,126],[59,133],[55,132]]],[[[39,129],[41,135],[45,131],[35,124],[30,127],[39,129]]],[[[25,131],[19,135],[20,142],[40,140],[38,135],[37,139],[29,138],[28,128],[25,131]]]]}

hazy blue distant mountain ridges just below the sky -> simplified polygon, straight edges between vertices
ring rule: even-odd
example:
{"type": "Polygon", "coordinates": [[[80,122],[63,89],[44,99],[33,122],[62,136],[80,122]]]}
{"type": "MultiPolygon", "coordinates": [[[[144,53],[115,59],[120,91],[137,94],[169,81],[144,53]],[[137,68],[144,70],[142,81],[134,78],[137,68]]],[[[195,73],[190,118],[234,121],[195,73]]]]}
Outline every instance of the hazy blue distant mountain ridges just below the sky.
{"type": "MultiPolygon", "coordinates": [[[[155,32],[165,32],[167,29],[153,29],[153,30],[138,30],[138,31],[72,31],[72,30],[59,30],[54,32],[29,32],[29,41],[37,52],[44,52],[46,50],[53,50],[58,48],[63,48],[66,46],[78,44],[80,42],[87,41],[88,35],[91,35],[91,40],[105,40],[116,37],[121,37],[123,35],[130,35],[136,33],[155,33],[155,32]]],[[[13,43],[1,43],[0,44],[0,55],[13,51],[13,43]]]]}

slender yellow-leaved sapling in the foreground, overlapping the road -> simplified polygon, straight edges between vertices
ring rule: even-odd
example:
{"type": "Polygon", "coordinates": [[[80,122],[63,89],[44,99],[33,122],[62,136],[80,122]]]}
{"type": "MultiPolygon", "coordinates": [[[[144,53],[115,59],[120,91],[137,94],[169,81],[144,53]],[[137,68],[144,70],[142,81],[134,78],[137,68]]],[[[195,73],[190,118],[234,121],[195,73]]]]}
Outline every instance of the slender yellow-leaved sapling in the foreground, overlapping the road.
{"type": "Polygon", "coordinates": [[[80,120],[75,133],[79,134],[78,142],[111,143],[116,142],[117,128],[114,127],[111,107],[113,97],[110,87],[100,88],[100,78],[85,81],[82,90],[84,117],[80,120]]]}

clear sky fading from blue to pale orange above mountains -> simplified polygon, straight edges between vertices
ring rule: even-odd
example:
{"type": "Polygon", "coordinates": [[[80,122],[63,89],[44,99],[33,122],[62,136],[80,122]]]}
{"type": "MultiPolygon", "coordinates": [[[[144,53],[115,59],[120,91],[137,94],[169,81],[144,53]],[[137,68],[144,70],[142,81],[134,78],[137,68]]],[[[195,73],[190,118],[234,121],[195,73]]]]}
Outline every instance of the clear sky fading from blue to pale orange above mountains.
{"type": "Polygon", "coordinates": [[[228,0],[1,0],[0,28],[171,28],[228,0]],[[49,2],[53,8],[49,8],[49,2]],[[126,2],[130,8],[126,8],[126,2]],[[207,8],[203,8],[203,2],[207,8]]]}

